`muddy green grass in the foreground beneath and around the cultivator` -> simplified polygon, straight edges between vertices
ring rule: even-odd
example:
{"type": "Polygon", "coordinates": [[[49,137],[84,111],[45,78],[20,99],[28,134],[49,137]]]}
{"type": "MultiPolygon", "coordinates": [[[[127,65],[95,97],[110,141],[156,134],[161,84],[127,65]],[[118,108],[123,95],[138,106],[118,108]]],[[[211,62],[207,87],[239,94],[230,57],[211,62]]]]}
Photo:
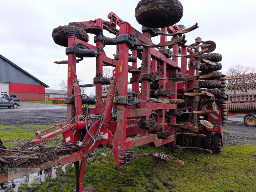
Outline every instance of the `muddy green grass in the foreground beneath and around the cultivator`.
{"type": "MultiPolygon", "coordinates": [[[[51,126],[22,125],[22,127],[0,126],[0,138],[6,147],[35,138],[34,131],[51,126]]],[[[256,146],[224,146],[221,155],[207,154],[184,149],[170,154],[167,148],[139,147],[135,153],[164,152],[184,161],[182,168],[167,162],[163,170],[152,165],[151,157],[140,157],[131,164],[115,165],[110,150],[107,156],[97,153],[98,158],[86,167],[84,186],[93,186],[98,192],[187,192],[187,191],[256,191],[256,146]],[[167,190],[165,185],[175,189],[167,190]]],[[[57,171],[57,178],[48,178],[40,186],[31,186],[38,192],[72,191],[75,186],[75,172],[72,165],[67,173],[57,171]]],[[[25,187],[25,186],[23,186],[25,187]]],[[[27,187],[26,187],[27,188],[27,187]]],[[[20,191],[28,191],[29,189],[20,191]]]]}

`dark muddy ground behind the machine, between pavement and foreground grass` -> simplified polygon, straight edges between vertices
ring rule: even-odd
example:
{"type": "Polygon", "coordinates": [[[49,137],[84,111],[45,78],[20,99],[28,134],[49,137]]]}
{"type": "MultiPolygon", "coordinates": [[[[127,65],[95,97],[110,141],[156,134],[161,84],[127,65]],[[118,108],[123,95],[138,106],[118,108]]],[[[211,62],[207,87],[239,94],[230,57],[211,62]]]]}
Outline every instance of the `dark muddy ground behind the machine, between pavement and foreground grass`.
{"type": "MultiPolygon", "coordinates": [[[[21,108],[22,109],[22,108],[21,108]]],[[[1,125],[19,126],[26,124],[48,125],[66,123],[66,110],[6,110],[1,113],[1,125]],[[11,118],[10,118],[11,117],[11,118]]],[[[1,110],[1,109],[0,109],[1,110]]],[[[22,126],[21,126],[22,127],[22,126]]],[[[232,116],[224,127],[224,145],[252,144],[256,145],[256,127],[247,127],[243,116],[232,116]]]]}

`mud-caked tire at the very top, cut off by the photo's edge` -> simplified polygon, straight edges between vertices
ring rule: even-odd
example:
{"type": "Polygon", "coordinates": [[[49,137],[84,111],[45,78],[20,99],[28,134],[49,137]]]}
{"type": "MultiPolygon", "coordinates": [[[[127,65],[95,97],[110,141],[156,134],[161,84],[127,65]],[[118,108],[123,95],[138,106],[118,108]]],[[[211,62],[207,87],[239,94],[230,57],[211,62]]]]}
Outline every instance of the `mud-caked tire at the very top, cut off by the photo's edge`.
{"type": "Polygon", "coordinates": [[[149,28],[164,28],[179,22],[183,6],[178,0],[141,0],[135,8],[136,20],[149,28]]]}

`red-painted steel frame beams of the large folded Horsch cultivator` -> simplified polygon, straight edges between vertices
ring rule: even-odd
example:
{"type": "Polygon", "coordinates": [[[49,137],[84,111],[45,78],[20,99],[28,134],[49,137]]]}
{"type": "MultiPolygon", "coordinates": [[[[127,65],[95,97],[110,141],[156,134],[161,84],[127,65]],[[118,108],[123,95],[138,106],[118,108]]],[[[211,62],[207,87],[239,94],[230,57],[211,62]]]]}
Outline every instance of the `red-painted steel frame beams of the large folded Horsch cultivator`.
{"type": "MultiPolygon", "coordinates": [[[[146,32],[144,34],[140,33],[136,29],[132,28],[128,22],[124,22],[119,19],[115,13],[111,12],[108,15],[110,22],[108,22],[113,27],[116,25],[119,26],[119,35],[122,34],[132,34],[137,37],[141,42],[145,44],[152,44],[150,33],[146,32]]],[[[107,22],[102,19],[96,19],[94,21],[86,21],[86,22],[77,22],[78,24],[84,24],[88,28],[87,32],[94,33],[95,35],[101,35],[100,28],[109,31],[110,33],[116,35],[116,30],[109,28],[106,24],[102,24],[103,22],[107,22]]],[[[168,28],[162,28],[162,32],[175,33],[180,30],[177,25],[168,28]]],[[[161,35],[161,42],[165,42],[167,37],[161,35]]],[[[101,42],[97,42],[96,45],[92,45],[77,39],[74,36],[68,37],[68,46],[73,46],[74,44],[82,43],[85,45],[86,49],[97,49],[100,47],[101,42]]],[[[201,43],[201,38],[196,38],[196,43],[201,43]]],[[[163,49],[165,47],[162,47],[163,49]]],[[[181,54],[186,55],[187,53],[193,53],[191,49],[187,46],[180,46],[181,54]]],[[[173,52],[178,54],[179,45],[173,45],[173,52]]],[[[149,100],[149,92],[150,92],[150,83],[147,80],[142,80],[141,82],[141,93],[139,92],[139,77],[140,73],[157,73],[160,77],[168,78],[170,74],[180,73],[184,76],[195,76],[198,75],[198,69],[194,70],[193,67],[193,58],[189,60],[189,70],[187,70],[187,59],[185,57],[181,58],[181,68],[178,67],[178,58],[173,57],[172,59],[167,58],[162,53],[158,52],[155,48],[144,47],[143,48],[143,56],[142,56],[142,67],[141,70],[132,70],[131,67],[137,67],[137,62],[132,62],[132,65],[128,63],[129,56],[129,46],[128,44],[119,44],[119,60],[113,60],[108,58],[105,52],[100,52],[96,57],[96,76],[100,76],[103,72],[103,64],[115,67],[113,71],[113,79],[115,84],[109,85],[108,96],[106,103],[102,103],[105,107],[103,108],[100,104],[100,101],[97,102],[95,108],[90,108],[91,114],[102,115],[104,114],[103,124],[100,128],[100,134],[105,135],[104,139],[97,140],[95,144],[87,145],[84,148],[81,148],[77,152],[69,151],[69,154],[63,153],[63,156],[60,159],[57,159],[52,162],[47,162],[41,164],[39,167],[41,170],[51,169],[51,167],[56,165],[64,165],[67,163],[74,162],[76,168],[76,190],[83,192],[83,176],[84,169],[86,166],[86,160],[88,154],[92,152],[97,147],[109,147],[112,149],[115,164],[123,164],[124,156],[127,150],[131,148],[135,148],[147,143],[150,143],[151,146],[158,147],[165,144],[175,145],[176,140],[176,132],[172,126],[160,125],[158,129],[160,130],[168,130],[172,133],[172,135],[166,139],[159,139],[156,134],[153,134],[151,130],[141,129],[137,125],[137,118],[140,117],[141,120],[149,120],[149,116],[151,114],[152,109],[158,110],[158,123],[166,123],[165,111],[167,109],[177,109],[177,106],[174,104],[167,103],[149,103],[149,102],[141,102],[138,105],[126,106],[118,104],[116,106],[117,111],[117,120],[111,121],[111,111],[113,106],[113,100],[115,91],[117,91],[119,96],[126,96],[127,86],[128,86],[128,73],[132,73],[132,77],[137,77],[138,81],[132,83],[132,91],[137,93],[137,97],[141,100],[149,100]],[[157,62],[159,62],[159,71],[157,71],[157,62]],[[129,119],[127,119],[129,117],[129,119]],[[133,118],[132,118],[133,117],[133,118]],[[136,136],[140,134],[140,136],[136,136]],[[131,137],[135,136],[135,137],[131,137]],[[81,164],[79,165],[79,161],[81,164]]],[[[136,50],[132,50],[132,56],[137,57],[138,52],[136,50]]],[[[81,115],[84,113],[84,108],[82,107],[82,99],[80,87],[77,81],[75,63],[74,63],[74,55],[68,54],[68,97],[73,96],[75,99],[75,104],[68,104],[67,106],[67,125],[61,125],[61,128],[47,133],[36,140],[33,140],[33,144],[36,145],[38,143],[43,142],[44,140],[48,140],[56,135],[63,134],[64,141],[66,144],[74,144],[79,140],[81,136],[82,130],[85,130],[86,122],[82,121],[83,117],[81,115]],[[75,120],[74,123],[70,123],[70,121],[75,120]]],[[[76,57],[75,57],[76,58],[76,57]]],[[[169,89],[173,93],[184,93],[187,89],[194,89],[198,87],[198,80],[190,81],[187,84],[183,84],[183,82],[174,82],[167,80],[159,81],[159,89],[169,89]]],[[[96,97],[100,98],[102,95],[102,84],[96,84],[96,97]]],[[[168,97],[162,97],[168,98],[168,97]]],[[[170,96],[170,99],[177,99],[177,95],[170,96]]],[[[193,110],[197,110],[197,104],[195,105],[193,110]]],[[[220,125],[220,111],[218,119],[215,119],[215,124],[219,126],[215,126],[213,131],[222,132],[222,126],[220,125]]],[[[92,121],[89,121],[91,124],[92,121]]],[[[176,116],[171,116],[171,122],[176,123],[176,116]]],[[[190,115],[190,121],[185,122],[185,124],[193,124],[197,125],[197,114],[190,115]]],[[[59,124],[60,125],[60,124],[59,124]]],[[[97,127],[99,129],[99,126],[97,127]]],[[[199,127],[198,130],[202,128],[199,127]]],[[[89,129],[90,131],[90,129],[89,129]]],[[[212,131],[212,130],[209,130],[212,131]]],[[[96,134],[97,129],[93,130],[93,134],[96,134]]],[[[89,140],[90,136],[87,135],[84,142],[89,140]]],[[[84,143],[83,143],[84,144],[84,143]]],[[[38,168],[38,166],[36,166],[38,168]]],[[[15,176],[14,176],[15,177],[15,176]]],[[[0,177],[0,183],[3,183],[7,180],[7,177],[0,177]]]]}

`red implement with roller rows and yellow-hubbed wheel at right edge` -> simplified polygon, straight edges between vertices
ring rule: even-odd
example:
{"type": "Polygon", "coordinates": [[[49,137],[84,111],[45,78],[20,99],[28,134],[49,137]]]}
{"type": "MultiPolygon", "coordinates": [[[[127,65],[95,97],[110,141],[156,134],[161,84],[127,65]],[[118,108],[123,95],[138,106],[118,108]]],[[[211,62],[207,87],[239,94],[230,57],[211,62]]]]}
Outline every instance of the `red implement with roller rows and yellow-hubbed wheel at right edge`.
{"type": "Polygon", "coordinates": [[[256,73],[227,76],[227,89],[234,92],[228,94],[228,116],[247,114],[244,116],[246,126],[256,125],[256,73]],[[237,92],[243,93],[237,93],[237,92]],[[231,103],[230,103],[231,102],[231,103]]]}

